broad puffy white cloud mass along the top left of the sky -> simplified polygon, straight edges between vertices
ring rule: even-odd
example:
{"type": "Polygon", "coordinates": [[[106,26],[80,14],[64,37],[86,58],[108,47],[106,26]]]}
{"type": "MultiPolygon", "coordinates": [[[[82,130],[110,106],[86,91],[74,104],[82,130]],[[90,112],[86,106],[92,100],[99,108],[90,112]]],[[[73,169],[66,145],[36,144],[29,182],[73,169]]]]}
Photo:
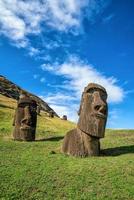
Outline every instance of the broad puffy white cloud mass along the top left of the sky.
{"type": "Polygon", "coordinates": [[[83,18],[92,20],[105,4],[103,0],[0,0],[0,34],[17,47],[26,47],[28,36],[40,35],[46,26],[76,33],[82,29],[83,18]]]}

